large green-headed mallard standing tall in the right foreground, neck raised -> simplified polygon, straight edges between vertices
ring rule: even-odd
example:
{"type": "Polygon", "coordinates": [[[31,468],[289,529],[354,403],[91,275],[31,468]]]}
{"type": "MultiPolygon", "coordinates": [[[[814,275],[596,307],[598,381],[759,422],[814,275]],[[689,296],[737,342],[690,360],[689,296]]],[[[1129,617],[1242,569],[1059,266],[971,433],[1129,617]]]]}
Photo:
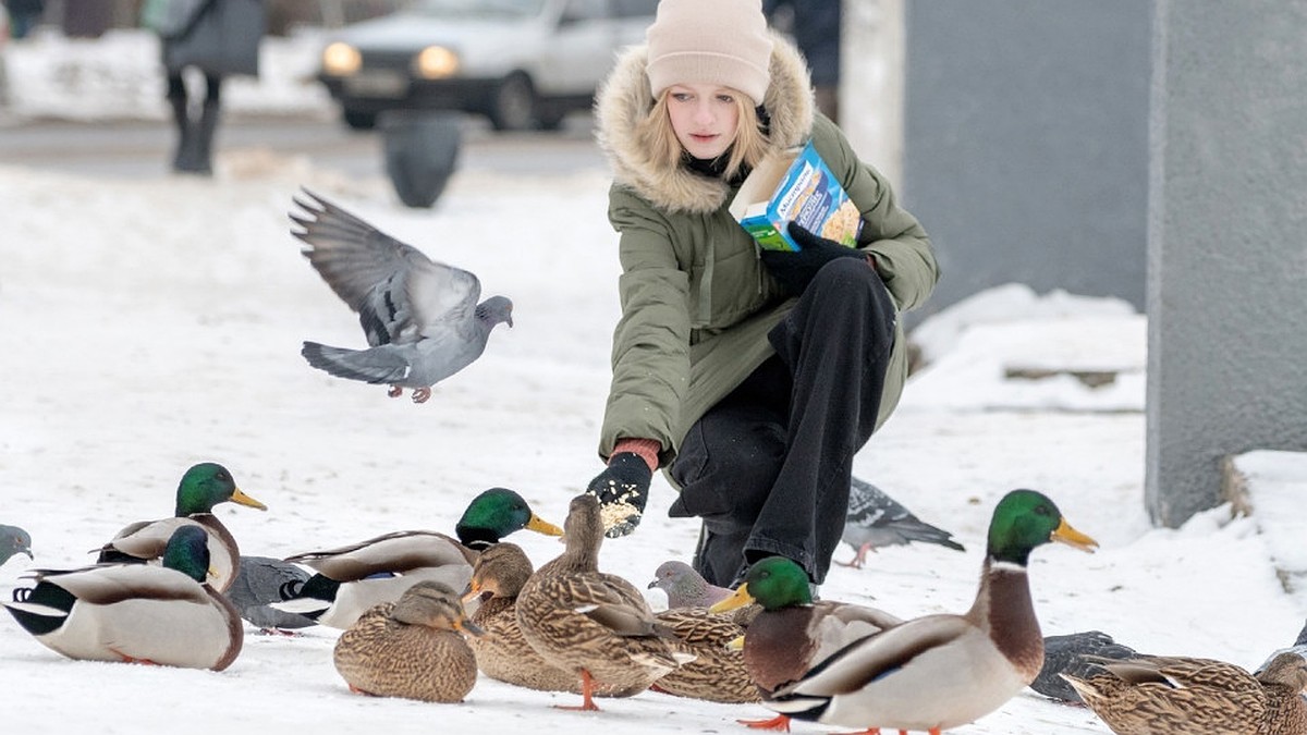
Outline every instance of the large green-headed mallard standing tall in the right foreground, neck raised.
{"type": "MultiPolygon", "coordinates": [[[[765,694],[763,705],[782,718],[932,735],[989,714],[1030,684],[1043,663],[1026,565],[1030,552],[1050,541],[1082,551],[1098,545],[1042,493],[1008,493],[989,523],[970,611],[912,619],[853,641],[765,694]]],[[[746,657],[752,636],[753,626],[746,657]]]]}

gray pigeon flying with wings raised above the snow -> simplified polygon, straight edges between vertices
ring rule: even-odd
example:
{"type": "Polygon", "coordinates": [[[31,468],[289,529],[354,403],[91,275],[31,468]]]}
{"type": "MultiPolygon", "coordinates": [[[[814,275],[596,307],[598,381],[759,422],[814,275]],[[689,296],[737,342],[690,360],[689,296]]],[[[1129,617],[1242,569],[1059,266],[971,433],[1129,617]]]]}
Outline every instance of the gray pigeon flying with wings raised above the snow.
{"type": "Polygon", "coordinates": [[[420,250],[372,228],[305,190],[295,199],[307,214],[291,234],[327,285],[358,313],[369,349],[306,341],[310,365],[337,378],[389,385],[389,396],[413,388],[413,403],[431,386],[471,365],[485,350],[490,330],[512,326],[512,302],[502,296],[481,303],[481,281],[468,271],[437,263],[420,250]]]}

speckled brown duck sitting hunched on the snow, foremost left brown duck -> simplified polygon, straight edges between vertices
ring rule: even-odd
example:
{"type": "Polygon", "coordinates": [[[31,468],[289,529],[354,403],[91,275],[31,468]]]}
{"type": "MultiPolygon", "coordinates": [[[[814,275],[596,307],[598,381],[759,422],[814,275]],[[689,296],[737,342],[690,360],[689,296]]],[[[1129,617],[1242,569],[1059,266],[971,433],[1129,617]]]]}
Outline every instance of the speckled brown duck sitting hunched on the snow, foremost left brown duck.
{"type": "Polygon", "coordinates": [[[370,608],[340,636],[336,671],[367,694],[463,701],[477,681],[477,662],[460,629],[477,632],[454,590],[418,582],[399,602],[370,608]]]}

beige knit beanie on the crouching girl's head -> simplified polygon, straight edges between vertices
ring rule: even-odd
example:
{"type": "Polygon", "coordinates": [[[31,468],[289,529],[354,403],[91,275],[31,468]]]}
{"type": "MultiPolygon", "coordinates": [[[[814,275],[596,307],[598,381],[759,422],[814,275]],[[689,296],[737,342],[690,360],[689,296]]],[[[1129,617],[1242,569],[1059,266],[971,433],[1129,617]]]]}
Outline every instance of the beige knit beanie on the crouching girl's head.
{"type": "Polygon", "coordinates": [[[654,97],[673,84],[716,84],[762,105],[771,81],[762,0],[661,0],[646,39],[654,97]]]}

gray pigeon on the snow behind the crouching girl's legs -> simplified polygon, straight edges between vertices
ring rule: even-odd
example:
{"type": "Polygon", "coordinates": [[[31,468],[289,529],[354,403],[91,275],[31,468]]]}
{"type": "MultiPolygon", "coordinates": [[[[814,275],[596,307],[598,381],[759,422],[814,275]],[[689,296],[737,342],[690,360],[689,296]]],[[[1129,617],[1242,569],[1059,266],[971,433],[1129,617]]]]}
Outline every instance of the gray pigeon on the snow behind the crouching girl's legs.
{"type": "Polygon", "coordinates": [[[863,568],[868,551],[911,541],[966,551],[962,544],[953,540],[953,534],[923,523],[912,515],[912,511],[885,494],[885,490],[857,477],[853,477],[850,485],[848,515],[844,517],[844,534],[840,540],[857,549],[857,555],[851,561],[835,564],[853,569],[863,568]]]}

